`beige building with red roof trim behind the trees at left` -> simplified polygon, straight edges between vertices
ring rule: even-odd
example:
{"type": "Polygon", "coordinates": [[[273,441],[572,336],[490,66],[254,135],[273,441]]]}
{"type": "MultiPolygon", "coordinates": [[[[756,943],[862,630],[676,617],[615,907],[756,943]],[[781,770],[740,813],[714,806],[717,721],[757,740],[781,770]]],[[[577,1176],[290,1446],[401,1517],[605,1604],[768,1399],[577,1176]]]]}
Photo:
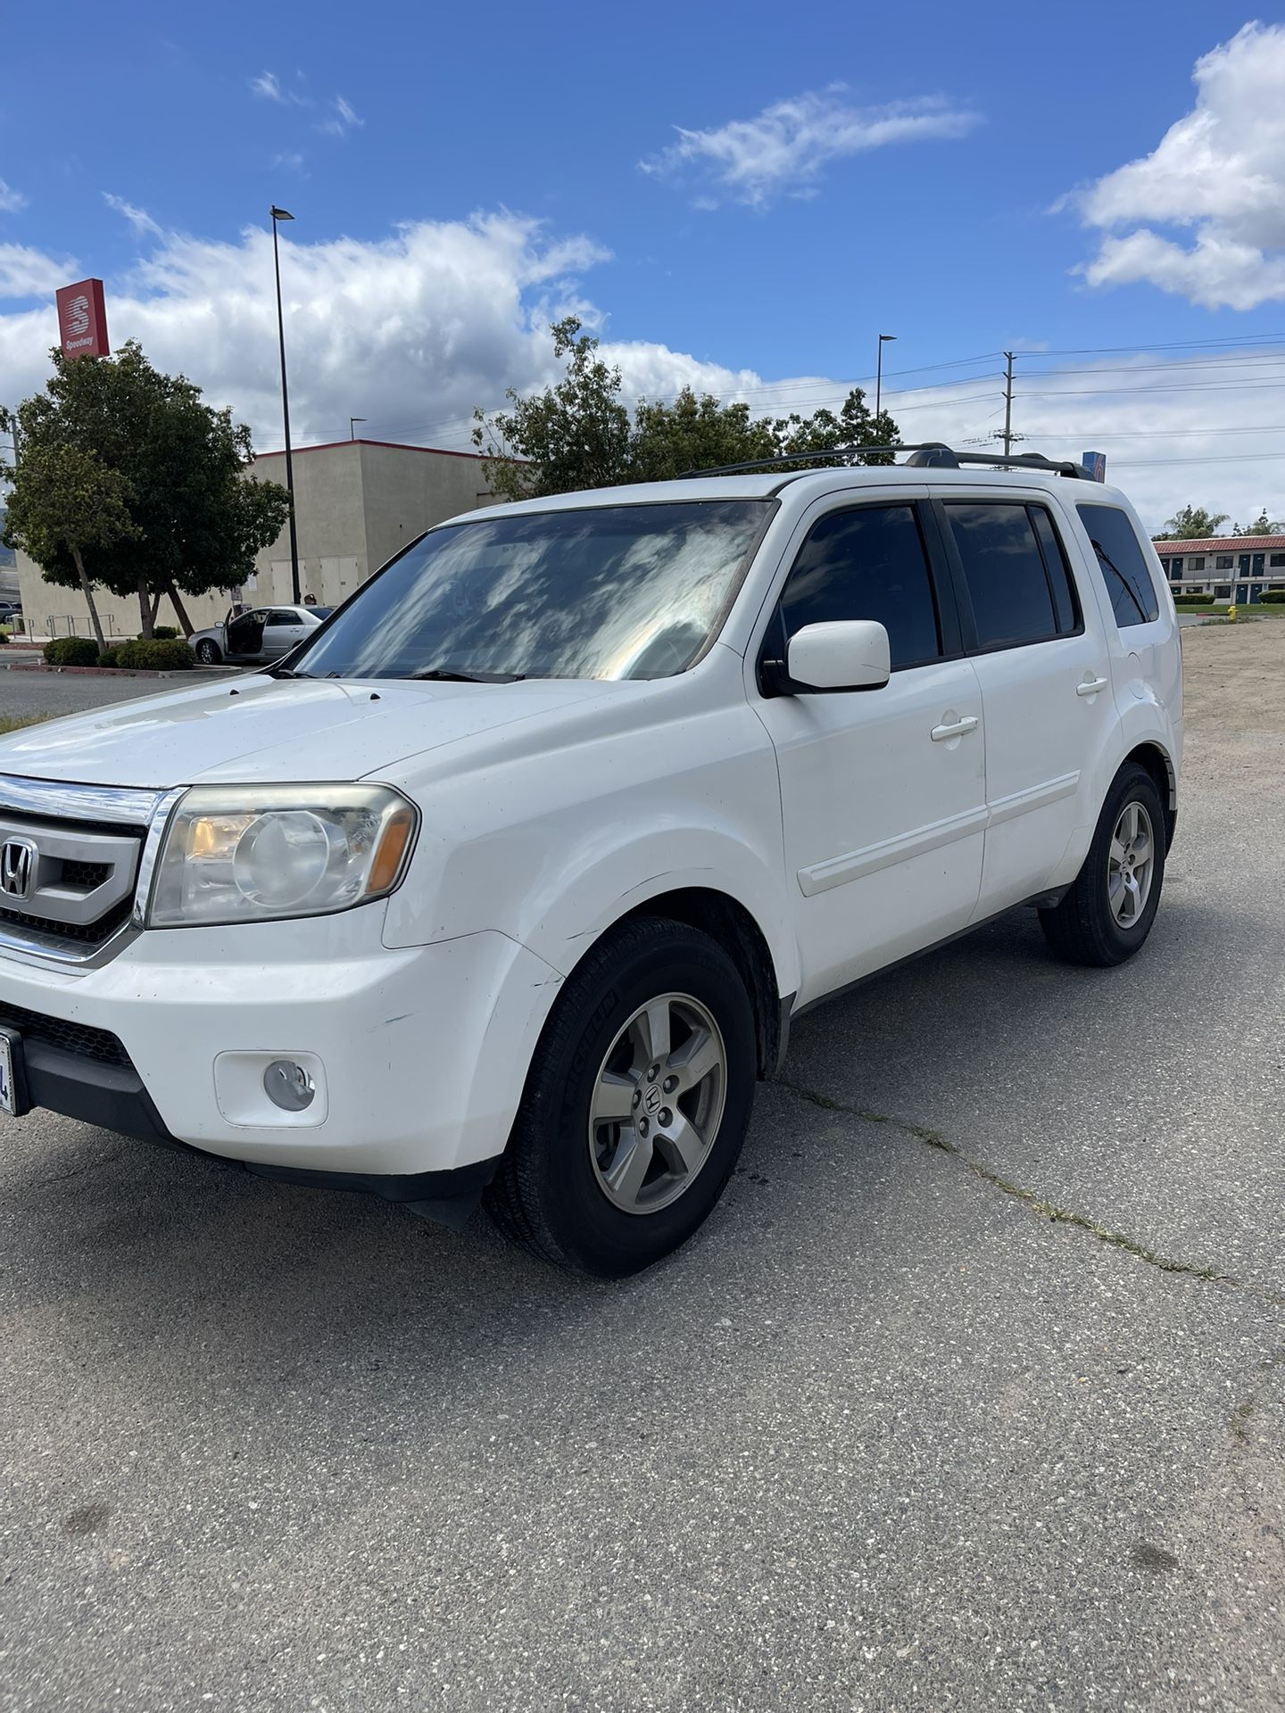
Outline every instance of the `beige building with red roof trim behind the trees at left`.
{"type": "MultiPolygon", "coordinates": [[[[319,606],[336,606],[430,524],[490,504],[483,459],[475,452],[338,440],[296,447],[293,464],[300,596],[314,594],[319,606]]],[[[255,476],[284,486],[284,452],[262,452],[250,471],[250,478],[255,476]]],[[[17,555],[17,569],[29,632],[91,636],[89,612],[77,589],[45,582],[39,565],[24,553],[17,555]]],[[[288,531],[259,555],[240,591],[185,596],[183,605],[192,625],[200,629],[223,618],[230,600],[252,606],[291,600],[288,531]]],[[[139,634],[137,600],[96,589],[94,603],[105,634],[139,634]]],[[[161,601],[156,622],[178,622],[168,600],[161,601]]]]}

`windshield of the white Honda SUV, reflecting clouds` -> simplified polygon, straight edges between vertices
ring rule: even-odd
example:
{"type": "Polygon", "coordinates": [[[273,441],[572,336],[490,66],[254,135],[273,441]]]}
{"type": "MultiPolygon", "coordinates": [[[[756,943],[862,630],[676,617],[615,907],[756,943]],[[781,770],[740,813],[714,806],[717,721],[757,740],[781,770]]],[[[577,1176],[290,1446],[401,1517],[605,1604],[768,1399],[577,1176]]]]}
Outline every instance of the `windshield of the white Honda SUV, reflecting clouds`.
{"type": "Polygon", "coordinates": [[[721,622],[771,505],[601,505],[432,529],[291,665],[320,678],[665,678],[721,622]]]}

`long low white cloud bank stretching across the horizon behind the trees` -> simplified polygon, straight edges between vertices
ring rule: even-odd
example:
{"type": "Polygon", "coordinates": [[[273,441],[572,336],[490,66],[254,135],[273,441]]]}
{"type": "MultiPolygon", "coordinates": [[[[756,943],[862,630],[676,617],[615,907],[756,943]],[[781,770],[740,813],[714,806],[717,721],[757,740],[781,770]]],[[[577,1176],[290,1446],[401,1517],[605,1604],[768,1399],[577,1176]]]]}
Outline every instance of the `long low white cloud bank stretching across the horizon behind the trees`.
{"type": "MultiPolygon", "coordinates": [[[[555,379],[550,320],[574,312],[589,329],[605,325],[586,276],[607,252],[516,214],[418,221],[380,242],[300,243],[296,231],[281,231],[281,281],[298,444],[344,439],[358,415],[370,439],[466,451],[475,404],[502,406],[505,387],[528,392],[555,379]]],[[[50,298],[77,278],[72,260],[0,247],[0,298],[45,298],[0,312],[5,403],[43,387],[57,339],[50,298]]],[[[161,368],[188,373],[211,403],[230,404],[260,449],[279,447],[267,231],[235,242],[163,235],[128,276],[108,279],[106,308],[117,346],[137,337],[161,368]]],[[[850,385],[817,375],[764,380],[735,358],[702,361],[658,341],[605,339],[601,349],[619,363],[631,401],[670,399],[690,385],[744,399],[756,415],[810,415],[838,408],[850,385]]],[[[995,356],[958,385],[913,392],[898,391],[901,377],[886,370],[884,403],[906,440],[961,445],[1001,427],[1001,368],[995,356]]],[[[1031,353],[1018,361],[1014,427],[1026,435],[1019,449],[1105,451],[1109,475],[1151,526],[1187,500],[1240,521],[1261,505],[1280,516],[1282,380],[1285,358],[1258,351],[1090,358],[1088,367],[1031,353]],[[1191,463],[1158,463],[1170,459],[1191,463]]]]}

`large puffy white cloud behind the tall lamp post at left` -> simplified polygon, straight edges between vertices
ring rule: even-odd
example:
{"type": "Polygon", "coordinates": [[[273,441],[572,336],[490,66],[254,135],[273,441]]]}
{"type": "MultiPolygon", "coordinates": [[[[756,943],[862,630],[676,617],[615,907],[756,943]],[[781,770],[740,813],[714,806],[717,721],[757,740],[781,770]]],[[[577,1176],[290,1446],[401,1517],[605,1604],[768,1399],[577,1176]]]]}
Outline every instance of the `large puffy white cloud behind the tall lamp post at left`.
{"type": "MultiPolygon", "coordinates": [[[[368,433],[468,447],[475,404],[553,377],[547,324],[584,301],[583,274],[607,259],[584,236],[559,236],[500,212],[413,223],[382,242],[300,243],[281,231],[290,404],[296,439],[368,433]]],[[[50,293],[74,264],[0,247],[0,295],[50,293]]],[[[164,235],[130,274],[108,279],[111,339],[135,337],[158,367],[188,373],[216,404],[279,445],[271,233],[235,242],[164,235]]],[[[0,313],[5,396],[38,391],[57,339],[53,308],[0,313]]]]}

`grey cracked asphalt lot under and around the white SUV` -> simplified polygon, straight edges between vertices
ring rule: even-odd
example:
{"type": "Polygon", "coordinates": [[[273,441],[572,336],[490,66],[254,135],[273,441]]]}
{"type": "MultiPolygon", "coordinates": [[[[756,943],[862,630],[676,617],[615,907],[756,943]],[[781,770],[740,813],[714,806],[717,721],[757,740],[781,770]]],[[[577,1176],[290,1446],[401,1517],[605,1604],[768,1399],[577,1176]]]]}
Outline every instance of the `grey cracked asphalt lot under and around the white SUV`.
{"type": "Polygon", "coordinates": [[[1280,1710],[1285,625],[1184,651],[1146,951],[812,1012],[632,1281],[0,1120],[0,1706],[1280,1710]]]}

